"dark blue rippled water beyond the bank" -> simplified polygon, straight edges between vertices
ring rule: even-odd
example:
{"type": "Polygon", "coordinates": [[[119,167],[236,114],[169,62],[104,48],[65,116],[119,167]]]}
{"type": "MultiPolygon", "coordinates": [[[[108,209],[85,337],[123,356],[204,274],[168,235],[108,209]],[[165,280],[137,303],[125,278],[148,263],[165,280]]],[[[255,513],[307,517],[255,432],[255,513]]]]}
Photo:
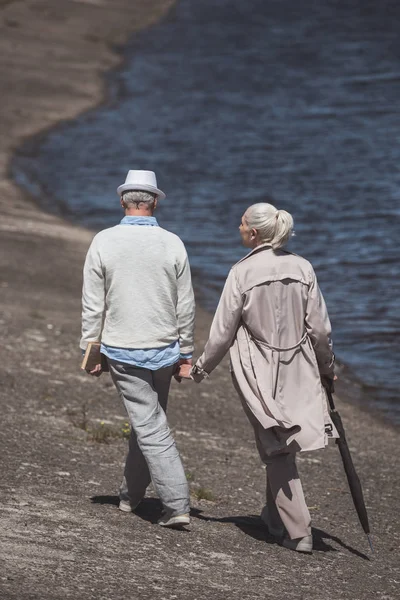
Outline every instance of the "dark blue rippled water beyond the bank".
{"type": "Polygon", "coordinates": [[[27,144],[17,180],[100,229],[117,185],[152,169],[160,223],[186,243],[203,304],[244,254],[245,208],[292,212],[335,349],[400,422],[400,5],[182,0],[137,35],[102,108],[27,144]],[[32,188],[33,186],[33,188],[32,188]]]}

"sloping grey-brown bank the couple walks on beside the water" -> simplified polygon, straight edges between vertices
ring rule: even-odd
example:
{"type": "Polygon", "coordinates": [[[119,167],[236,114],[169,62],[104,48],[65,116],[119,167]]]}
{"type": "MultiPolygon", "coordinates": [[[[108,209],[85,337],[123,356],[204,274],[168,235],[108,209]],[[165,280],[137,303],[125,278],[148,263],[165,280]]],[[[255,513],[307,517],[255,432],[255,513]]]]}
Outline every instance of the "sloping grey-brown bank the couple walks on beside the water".
{"type": "MultiPolygon", "coordinates": [[[[190,532],[157,527],[152,497],[138,515],[116,509],[125,415],[108,376],[80,373],[77,352],[92,234],[38,210],[8,178],[8,164],[23,139],[100,102],[101,74],[120,60],[110,47],[170,4],[42,0],[0,9],[0,597],[394,599],[398,430],[339,403],[375,555],[335,446],[300,457],[316,551],[291,553],[258,519],[265,471],[226,363],[200,386],[172,387],[170,422],[193,494],[190,532]]],[[[199,309],[199,351],[209,325],[199,309]]]]}

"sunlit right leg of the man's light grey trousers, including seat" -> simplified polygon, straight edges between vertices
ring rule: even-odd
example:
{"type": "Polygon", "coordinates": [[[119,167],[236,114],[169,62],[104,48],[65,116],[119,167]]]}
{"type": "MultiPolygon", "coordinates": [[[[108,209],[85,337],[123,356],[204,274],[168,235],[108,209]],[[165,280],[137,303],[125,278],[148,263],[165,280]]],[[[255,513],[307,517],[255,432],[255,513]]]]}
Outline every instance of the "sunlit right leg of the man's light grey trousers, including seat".
{"type": "Polygon", "coordinates": [[[171,515],[189,512],[189,488],[160,399],[168,397],[174,367],[150,371],[109,361],[153,485],[171,515]]]}

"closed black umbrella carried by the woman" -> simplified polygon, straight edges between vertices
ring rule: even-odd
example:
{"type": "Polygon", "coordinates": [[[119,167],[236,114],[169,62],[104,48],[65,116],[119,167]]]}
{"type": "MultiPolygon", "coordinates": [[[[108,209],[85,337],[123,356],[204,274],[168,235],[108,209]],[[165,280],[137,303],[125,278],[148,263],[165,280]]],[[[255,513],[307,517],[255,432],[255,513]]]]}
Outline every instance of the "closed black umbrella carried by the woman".
{"type": "Polygon", "coordinates": [[[328,395],[328,401],[330,406],[330,416],[333,424],[335,425],[337,432],[339,434],[339,438],[336,439],[336,444],[339,446],[340,455],[342,457],[344,470],[346,472],[347,481],[349,483],[350,492],[353,498],[354,506],[358,514],[358,518],[360,520],[361,526],[364,529],[370,548],[372,552],[374,548],[372,546],[372,541],[370,538],[370,528],[368,522],[368,514],[367,509],[365,508],[364,496],[361,488],[361,483],[358,478],[357,472],[354,468],[353,460],[351,458],[349,446],[346,440],[346,434],[344,431],[342,419],[335,408],[335,403],[333,401],[332,392],[333,385],[326,387],[326,392],[328,395]]]}

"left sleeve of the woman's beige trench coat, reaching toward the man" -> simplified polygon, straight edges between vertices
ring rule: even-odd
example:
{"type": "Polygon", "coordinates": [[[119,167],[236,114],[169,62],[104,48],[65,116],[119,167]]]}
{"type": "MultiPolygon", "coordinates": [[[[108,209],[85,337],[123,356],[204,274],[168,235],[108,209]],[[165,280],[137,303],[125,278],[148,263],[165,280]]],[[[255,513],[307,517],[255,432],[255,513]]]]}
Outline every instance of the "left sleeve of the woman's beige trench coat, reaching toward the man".
{"type": "Polygon", "coordinates": [[[193,369],[193,379],[200,381],[211,373],[228,352],[242,317],[243,302],[235,271],[231,269],[211,324],[208,342],[193,369]]]}

